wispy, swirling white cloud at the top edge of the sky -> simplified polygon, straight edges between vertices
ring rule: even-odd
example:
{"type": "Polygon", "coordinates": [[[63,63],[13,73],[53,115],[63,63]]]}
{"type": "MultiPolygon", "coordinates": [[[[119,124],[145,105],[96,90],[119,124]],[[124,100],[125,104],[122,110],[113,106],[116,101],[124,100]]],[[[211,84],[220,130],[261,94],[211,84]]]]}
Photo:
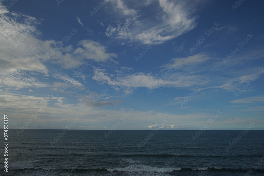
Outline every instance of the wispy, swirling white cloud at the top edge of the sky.
{"type": "MultiPolygon", "coordinates": [[[[106,30],[106,36],[117,35],[117,39],[129,39],[129,41],[140,41],[142,44],[157,45],[182,35],[196,26],[196,17],[190,18],[188,15],[178,16],[181,10],[185,8],[185,4],[180,4],[178,1],[159,0],[159,8],[162,12],[158,16],[157,14],[139,16],[144,11],[138,12],[130,9],[121,0],[112,2],[116,4],[115,8],[121,9],[121,13],[125,16],[121,16],[121,18],[123,17],[123,22],[120,22],[120,16],[118,16],[119,22],[117,22],[117,25],[109,25],[106,30]],[[128,15],[130,17],[127,17],[128,15]],[[153,20],[158,21],[153,23],[153,20]]],[[[153,11],[158,10],[156,8],[153,9],[153,11]]],[[[191,11],[188,13],[191,13],[191,11]]]]}

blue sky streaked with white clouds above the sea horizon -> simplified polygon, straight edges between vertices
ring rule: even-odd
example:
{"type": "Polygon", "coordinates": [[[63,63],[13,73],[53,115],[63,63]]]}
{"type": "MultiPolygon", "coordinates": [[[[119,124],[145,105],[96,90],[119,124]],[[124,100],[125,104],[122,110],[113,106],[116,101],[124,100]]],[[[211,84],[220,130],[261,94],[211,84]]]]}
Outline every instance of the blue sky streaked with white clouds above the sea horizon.
{"type": "Polygon", "coordinates": [[[0,3],[9,128],[263,130],[261,0],[0,3]]]}

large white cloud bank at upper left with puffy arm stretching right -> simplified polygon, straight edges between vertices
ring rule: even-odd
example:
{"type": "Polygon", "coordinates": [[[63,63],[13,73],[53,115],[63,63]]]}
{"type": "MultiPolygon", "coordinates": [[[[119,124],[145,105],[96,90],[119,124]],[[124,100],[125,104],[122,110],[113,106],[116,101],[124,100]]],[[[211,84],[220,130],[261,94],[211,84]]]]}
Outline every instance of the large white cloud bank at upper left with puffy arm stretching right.
{"type": "MultiPolygon", "coordinates": [[[[0,4],[0,9],[5,9],[0,4]]],[[[78,18],[77,18],[78,20],[78,18]]],[[[63,46],[50,59],[47,54],[54,50],[60,41],[39,40],[41,33],[35,27],[36,18],[21,13],[2,11],[0,18],[0,75],[20,73],[18,70],[36,71],[48,76],[45,62],[58,63],[63,68],[77,68],[84,59],[104,62],[116,58],[114,53],[107,53],[99,42],[82,40],[79,47],[63,46]],[[22,41],[18,41],[21,39],[22,41]]],[[[44,21],[45,22],[45,21],[44,21]]]]}

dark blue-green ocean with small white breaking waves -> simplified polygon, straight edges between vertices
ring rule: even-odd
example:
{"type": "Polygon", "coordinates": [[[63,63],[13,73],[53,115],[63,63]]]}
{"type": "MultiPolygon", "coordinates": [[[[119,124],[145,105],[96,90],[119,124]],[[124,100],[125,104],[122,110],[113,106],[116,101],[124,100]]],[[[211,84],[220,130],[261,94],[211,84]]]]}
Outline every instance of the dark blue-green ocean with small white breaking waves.
{"type": "Polygon", "coordinates": [[[264,131],[62,131],[8,130],[0,175],[264,175],[264,131]]]}

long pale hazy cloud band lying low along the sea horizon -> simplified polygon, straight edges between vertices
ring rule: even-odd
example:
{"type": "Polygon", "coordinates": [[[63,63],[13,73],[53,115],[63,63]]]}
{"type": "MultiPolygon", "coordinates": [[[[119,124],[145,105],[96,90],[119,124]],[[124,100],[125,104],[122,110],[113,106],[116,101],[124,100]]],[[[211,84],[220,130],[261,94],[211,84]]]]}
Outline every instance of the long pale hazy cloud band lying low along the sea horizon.
{"type": "MultiPolygon", "coordinates": [[[[119,121],[119,117],[127,113],[127,109],[122,110],[104,110],[98,108],[100,106],[87,106],[87,104],[80,101],[78,104],[69,104],[65,97],[53,97],[53,96],[21,96],[19,94],[13,94],[13,97],[8,101],[4,101],[5,95],[0,91],[0,107],[8,113],[9,116],[14,117],[16,121],[16,126],[11,125],[13,128],[19,128],[20,125],[24,124],[32,118],[32,114],[39,111],[41,106],[45,108],[41,112],[34,122],[29,126],[29,128],[51,128],[58,129],[58,126],[62,124],[68,124],[74,119],[74,116],[79,116],[81,120],[78,122],[79,125],[84,126],[87,129],[91,126],[96,126],[98,129],[103,129],[106,124],[109,124],[107,128],[111,127],[111,124],[115,124],[119,121]],[[56,101],[54,103],[54,101],[56,101]],[[107,114],[107,116],[103,116],[107,114]]],[[[87,99],[88,100],[88,99],[87,99]]],[[[112,102],[120,103],[120,102],[112,102]]],[[[102,102],[101,105],[107,105],[107,102],[102,102]]],[[[110,104],[108,104],[110,105],[110,104]]],[[[131,107],[132,109],[135,109],[131,107]]],[[[158,127],[159,129],[193,129],[194,126],[204,125],[205,122],[198,121],[204,120],[212,117],[213,114],[207,113],[193,113],[186,115],[175,115],[168,113],[156,113],[154,111],[135,111],[129,115],[126,119],[126,123],[122,125],[120,129],[127,129],[131,126],[136,127],[136,129],[150,129],[153,127],[158,127]],[[144,118],[142,118],[144,116],[144,118]],[[162,119],[167,119],[168,123],[166,125],[158,125],[162,122],[162,119]],[[179,125],[178,122],[186,125],[179,125]],[[149,125],[154,122],[157,125],[149,125]],[[177,124],[177,125],[176,125],[177,124]],[[188,126],[187,126],[188,125],[188,126]],[[148,126],[151,126],[148,128],[148,126]]],[[[33,119],[33,118],[32,118],[33,119]]],[[[244,120],[248,123],[248,120],[244,120]]],[[[215,122],[217,123],[217,122],[215,122]]],[[[230,121],[221,121],[222,124],[231,124],[230,121]]],[[[238,123],[238,121],[234,121],[238,123]]],[[[244,122],[243,122],[244,123],[244,122]]],[[[78,126],[78,124],[76,123],[78,126]]],[[[74,127],[75,128],[75,127],[74,127]]]]}

